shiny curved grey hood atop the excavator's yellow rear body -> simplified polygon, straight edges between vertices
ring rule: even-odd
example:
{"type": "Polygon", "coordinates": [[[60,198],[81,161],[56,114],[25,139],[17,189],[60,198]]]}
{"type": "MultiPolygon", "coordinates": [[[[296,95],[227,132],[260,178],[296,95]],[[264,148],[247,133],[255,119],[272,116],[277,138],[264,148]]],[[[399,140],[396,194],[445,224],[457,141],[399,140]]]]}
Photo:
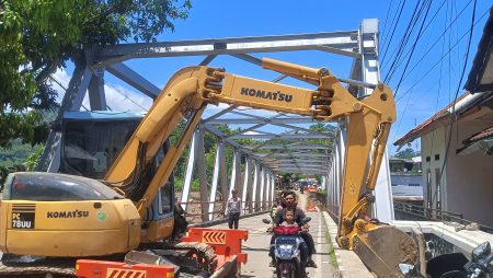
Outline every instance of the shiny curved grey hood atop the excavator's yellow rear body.
{"type": "Polygon", "coordinates": [[[121,199],[106,185],[90,178],[53,173],[14,173],[5,183],[3,199],[10,200],[111,200],[121,199]]]}

